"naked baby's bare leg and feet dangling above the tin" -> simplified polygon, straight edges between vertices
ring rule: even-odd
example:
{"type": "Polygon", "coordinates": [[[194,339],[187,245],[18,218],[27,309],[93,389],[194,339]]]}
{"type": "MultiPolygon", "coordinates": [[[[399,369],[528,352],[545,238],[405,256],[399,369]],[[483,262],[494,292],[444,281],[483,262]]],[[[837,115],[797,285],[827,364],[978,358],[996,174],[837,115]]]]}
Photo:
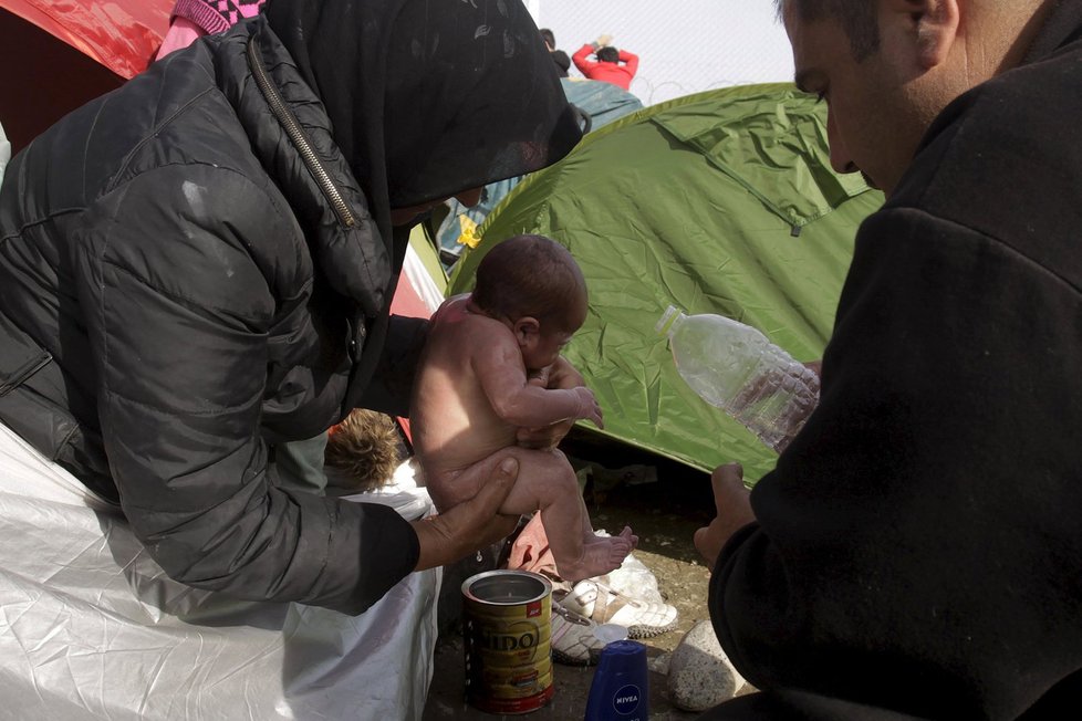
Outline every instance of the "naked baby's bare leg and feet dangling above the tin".
{"type": "Polygon", "coordinates": [[[615,537],[594,534],[574,471],[564,454],[522,448],[510,452],[519,459],[519,477],[501,512],[540,509],[560,576],[574,583],[618,568],[637,539],[631,535],[631,529],[615,537]]]}

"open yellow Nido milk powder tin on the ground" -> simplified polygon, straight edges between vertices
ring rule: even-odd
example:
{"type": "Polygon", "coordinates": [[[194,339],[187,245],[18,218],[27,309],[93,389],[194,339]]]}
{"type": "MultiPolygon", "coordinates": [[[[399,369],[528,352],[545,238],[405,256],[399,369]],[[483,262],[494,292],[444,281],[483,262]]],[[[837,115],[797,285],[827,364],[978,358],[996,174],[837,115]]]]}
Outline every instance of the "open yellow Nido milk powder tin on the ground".
{"type": "Polygon", "coordinates": [[[462,583],[466,700],[488,713],[529,713],[552,699],[552,584],[529,571],[462,583]]]}

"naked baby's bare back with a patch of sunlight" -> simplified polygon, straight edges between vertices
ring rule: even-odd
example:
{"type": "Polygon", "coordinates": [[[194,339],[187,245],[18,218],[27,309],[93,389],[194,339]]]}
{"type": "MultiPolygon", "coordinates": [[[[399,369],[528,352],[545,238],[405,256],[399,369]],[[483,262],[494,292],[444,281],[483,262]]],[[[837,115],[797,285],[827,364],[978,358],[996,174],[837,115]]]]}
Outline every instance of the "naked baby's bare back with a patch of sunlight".
{"type": "Polygon", "coordinates": [[[514,445],[518,430],[496,414],[472,363],[495,344],[517,353],[514,336],[502,323],[469,312],[467,301],[449,299],[433,316],[414,382],[412,440],[429,484],[514,445]]]}

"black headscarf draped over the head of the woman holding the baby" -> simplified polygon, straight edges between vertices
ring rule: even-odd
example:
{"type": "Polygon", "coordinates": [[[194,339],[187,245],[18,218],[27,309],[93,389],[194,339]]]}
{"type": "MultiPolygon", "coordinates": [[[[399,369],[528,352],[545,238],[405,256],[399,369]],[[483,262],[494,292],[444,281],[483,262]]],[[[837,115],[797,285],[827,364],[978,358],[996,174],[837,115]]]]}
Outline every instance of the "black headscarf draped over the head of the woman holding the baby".
{"type": "Polygon", "coordinates": [[[271,0],[381,230],[389,209],[555,163],[581,138],[521,0],[271,0]]]}

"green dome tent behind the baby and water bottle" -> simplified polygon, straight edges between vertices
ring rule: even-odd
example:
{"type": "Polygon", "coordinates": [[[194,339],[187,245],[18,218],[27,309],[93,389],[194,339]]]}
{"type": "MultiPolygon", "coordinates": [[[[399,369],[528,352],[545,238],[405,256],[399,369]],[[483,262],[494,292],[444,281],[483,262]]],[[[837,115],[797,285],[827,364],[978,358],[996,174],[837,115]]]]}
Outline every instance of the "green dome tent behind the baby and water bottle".
{"type": "Polygon", "coordinates": [[[516,233],[565,244],[590,293],[566,349],[605,414],[583,430],[709,470],[738,460],[758,480],[776,454],[679,377],[654,331],[666,306],[718,313],[794,357],[821,357],[860,222],[883,201],[830,169],[826,108],[791,84],[711,91],[587,135],[519,184],[478,229],[449,293],[516,233]]]}

